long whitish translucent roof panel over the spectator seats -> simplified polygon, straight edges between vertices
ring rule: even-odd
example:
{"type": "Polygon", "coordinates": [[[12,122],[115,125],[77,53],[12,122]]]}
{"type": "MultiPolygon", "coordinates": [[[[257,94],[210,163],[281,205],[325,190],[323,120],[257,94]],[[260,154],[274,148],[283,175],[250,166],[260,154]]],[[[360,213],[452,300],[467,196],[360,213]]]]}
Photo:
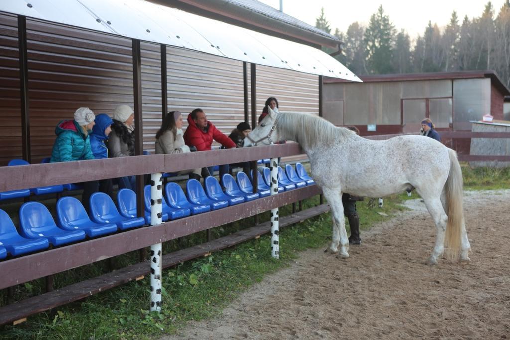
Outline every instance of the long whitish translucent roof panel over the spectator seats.
{"type": "Polygon", "coordinates": [[[0,11],[249,63],[361,82],[320,49],[143,0],[1,0],[0,11]]]}

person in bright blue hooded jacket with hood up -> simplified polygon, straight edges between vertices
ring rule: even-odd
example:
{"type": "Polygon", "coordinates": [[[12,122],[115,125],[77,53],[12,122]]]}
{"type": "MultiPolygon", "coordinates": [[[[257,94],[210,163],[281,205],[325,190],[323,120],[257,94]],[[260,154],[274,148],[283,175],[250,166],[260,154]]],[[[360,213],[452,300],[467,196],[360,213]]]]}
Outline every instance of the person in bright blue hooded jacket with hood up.
{"type": "MultiPolygon", "coordinates": [[[[108,147],[105,141],[112,131],[113,120],[108,115],[101,113],[96,116],[94,122],[95,125],[92,127],[92,133],[90,134],[90,148],[96,160],[108,158],[108,147]]],[[[104,192],[114,199],[111,178],[100,179],[96,182],[96,191],[104,192]]]]}

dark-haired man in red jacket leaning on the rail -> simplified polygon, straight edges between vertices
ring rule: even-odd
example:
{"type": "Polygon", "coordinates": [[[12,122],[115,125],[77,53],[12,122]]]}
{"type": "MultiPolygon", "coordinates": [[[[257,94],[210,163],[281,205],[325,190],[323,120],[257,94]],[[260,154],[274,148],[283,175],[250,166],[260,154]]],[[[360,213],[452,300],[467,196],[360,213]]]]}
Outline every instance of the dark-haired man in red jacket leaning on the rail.
{"type": "MultiPolygon", "coordinates": [[[[207,121],[206,113],[202,109],[195,109],[188,115],[188,128],[184,133],[184,142],[188,146],[196,147],[197,151],[211,150],[213,140],[220,143],[227,149],[236,147],[236,144],[222,134],[220,130],[207,121]]],[[[208,168],[211,175],[213,167],[208,168]]],[[[228,164],[220,165],[220,181],[224,173],[228,173],[228,164]]]]}

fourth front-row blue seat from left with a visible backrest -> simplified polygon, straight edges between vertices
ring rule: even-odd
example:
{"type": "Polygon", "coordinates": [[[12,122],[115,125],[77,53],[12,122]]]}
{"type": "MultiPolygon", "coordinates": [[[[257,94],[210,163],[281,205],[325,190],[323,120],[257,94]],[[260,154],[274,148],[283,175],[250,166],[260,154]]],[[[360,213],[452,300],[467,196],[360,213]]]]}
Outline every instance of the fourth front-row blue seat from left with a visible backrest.
{"type": "Polygon", "coordinates": [[[115,223],[119,230],[128,230],[145,224],[143,217],[124,217],[119,214],[110,196],[102,192],[90,196],[92,221],[96,223],[115,223]]]}

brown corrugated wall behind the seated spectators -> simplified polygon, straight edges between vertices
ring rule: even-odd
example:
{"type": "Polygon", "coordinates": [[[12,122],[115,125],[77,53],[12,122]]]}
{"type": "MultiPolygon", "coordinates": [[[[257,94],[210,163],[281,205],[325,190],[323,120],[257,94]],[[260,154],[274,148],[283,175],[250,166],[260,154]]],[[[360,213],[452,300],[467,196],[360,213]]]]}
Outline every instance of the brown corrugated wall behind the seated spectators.
{"type": "MultiPolygon", "coordinates": [[[[0,14],[0,166],[21,158],[16,16],[0,14]]],[[[81,106],[112,115],[133,106],[131,40],[27,20],[32,162],[50,155],[55,126],[81,106]]],[[[160,45],[142,42],[144,149],[154,151],[161,124],[160,45]]],[[[318,76],[257,67],[257,107],[269,96],[282,110],[318,113],[318,76]]],[[[167,47],[168,110],[202,108],[229,134],[244,119],[242,62],[167,47]]],[[[248,79],[249,82],[249,79],[248,79]]],[[[249,83],[248,83],[249,84],[249,83]]]]}

